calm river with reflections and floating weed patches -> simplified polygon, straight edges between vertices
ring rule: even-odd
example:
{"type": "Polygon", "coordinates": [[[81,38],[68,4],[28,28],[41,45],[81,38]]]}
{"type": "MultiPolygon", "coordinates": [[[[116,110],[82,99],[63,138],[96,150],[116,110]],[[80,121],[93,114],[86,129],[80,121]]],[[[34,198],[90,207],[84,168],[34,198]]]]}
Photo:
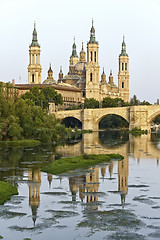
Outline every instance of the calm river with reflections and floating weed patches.
{"type": "Polygon", "coordinates": [[[0,149],[0,180],[19,195],[0,206],[5,240],[159,239],[160,136],[87,133],[64,146],[0,149]],[[61,176],[41,172],[59,156],[119,153],[61,176]]]}

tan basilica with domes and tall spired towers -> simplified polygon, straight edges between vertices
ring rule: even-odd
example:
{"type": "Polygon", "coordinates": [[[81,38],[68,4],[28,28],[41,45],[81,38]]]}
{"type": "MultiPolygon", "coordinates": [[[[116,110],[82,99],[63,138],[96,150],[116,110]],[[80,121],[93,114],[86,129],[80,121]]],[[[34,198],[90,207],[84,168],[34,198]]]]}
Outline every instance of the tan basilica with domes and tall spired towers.
{"type": "Polygon", "coordinates": [[[98,52],[99,44],[96,40],[94,23],[90,30],[90,39],[87,42],[87,53],[82,50],[78,56],[76,43],[72,46],[72,54],[69,61],[69,70],[66,75],[60,68],[57,81],[53,78],[51,64],[48,70],[46,80],[41,80],[42,67],[40,64],[40,45],[37,39],[36,25],[34,24],[32,43],[29,46],[29,65],[28,65],[28,84],[16,84],[20,93],[25,93],[32,86],[37,85],[39,88],[51,86],[61,93],[64,104],[82,103],[85,98],[95,98],[102,101],[105,97],[122,98],[125,102],[129,101],[129,57],[126,53],[126,44],[123,37],[122,50],[119,55],[118,86],[113,81],[112,71],[109,79],[106,74],[99,73],[98,52]]]}

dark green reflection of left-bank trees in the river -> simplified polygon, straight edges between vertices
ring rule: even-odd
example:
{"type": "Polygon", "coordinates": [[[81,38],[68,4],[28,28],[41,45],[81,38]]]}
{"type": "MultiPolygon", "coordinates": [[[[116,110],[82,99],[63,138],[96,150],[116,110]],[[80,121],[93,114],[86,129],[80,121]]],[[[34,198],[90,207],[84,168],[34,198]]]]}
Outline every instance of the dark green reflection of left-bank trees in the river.
{"type": "Polygon", "coordinates": [[[54,159],[54,152],[55,147],[53,145],[34,148],[13,147],[0,149],[0,168],[2,169],[0,170],[0,180],[7,177],[11,178],[12,176],[23,177],[24,168],[29,167],[32,162],[37,167],[44,166],[46,161],[51,162],[54,159]],[[53,154],[46,156],[47,152],[53,152],[53,154]]]}

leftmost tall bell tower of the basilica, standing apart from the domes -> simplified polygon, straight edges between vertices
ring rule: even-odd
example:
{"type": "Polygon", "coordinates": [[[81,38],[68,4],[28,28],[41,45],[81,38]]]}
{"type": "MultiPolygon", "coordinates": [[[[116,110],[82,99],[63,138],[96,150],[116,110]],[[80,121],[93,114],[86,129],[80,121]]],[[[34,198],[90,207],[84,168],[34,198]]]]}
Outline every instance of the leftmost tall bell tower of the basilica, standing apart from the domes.
{"type": "Polygon", "coordinates": [[[29,46],[28,83],[41,84],[40,45],[37,40],[36,24],[34,23],[32,43],[29,46]]]}

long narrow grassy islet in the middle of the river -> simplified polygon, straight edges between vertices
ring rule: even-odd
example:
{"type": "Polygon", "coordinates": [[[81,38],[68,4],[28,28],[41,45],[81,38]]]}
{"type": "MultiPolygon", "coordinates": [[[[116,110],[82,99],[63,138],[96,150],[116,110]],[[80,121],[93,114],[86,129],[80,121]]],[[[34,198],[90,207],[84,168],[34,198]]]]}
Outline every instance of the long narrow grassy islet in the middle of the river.
{"type": "Polygon", "coordinates": [[[123,156],[120,154],[90,154],[77,157],[60,158],[43,167],[42,171],[58,175],[75,169],[88,168],[102,162],[110,162],[113,159],[122,160],[123,156]]]}

